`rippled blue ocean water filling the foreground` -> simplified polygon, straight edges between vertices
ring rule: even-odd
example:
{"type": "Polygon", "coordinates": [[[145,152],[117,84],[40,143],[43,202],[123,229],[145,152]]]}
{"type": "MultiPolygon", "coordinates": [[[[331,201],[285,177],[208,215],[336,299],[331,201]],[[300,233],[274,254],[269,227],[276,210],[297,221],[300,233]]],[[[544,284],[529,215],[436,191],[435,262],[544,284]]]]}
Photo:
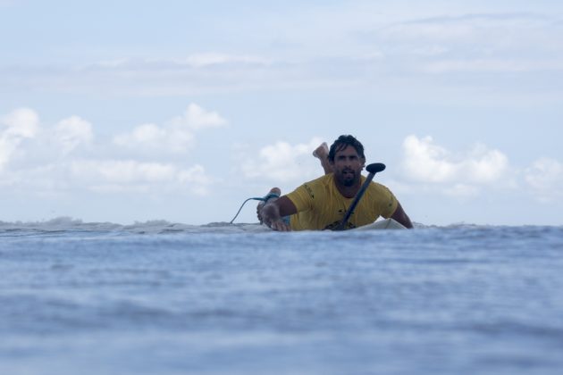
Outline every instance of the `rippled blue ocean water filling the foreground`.
{"type": "Polygon", "coordinates": [[[1,374],[560,374],[563,227],[0,222],[1,374]]]}

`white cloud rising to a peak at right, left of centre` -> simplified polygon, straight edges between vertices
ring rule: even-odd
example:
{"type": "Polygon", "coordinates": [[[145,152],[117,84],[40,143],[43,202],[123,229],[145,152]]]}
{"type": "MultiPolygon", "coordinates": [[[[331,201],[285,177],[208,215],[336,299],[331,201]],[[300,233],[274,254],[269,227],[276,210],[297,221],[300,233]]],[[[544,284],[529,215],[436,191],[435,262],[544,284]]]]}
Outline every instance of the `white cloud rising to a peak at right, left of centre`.
{"type": "Polygon", "coordinates": [[[194,144],[195,132],[217,128],[227,121],[217,112],[206,111],[197,104],[189,104],[183,115],[175,117],[163,126],[143,124],[129,133],[113,137],[113,144],[128,148],[154,149],[172,153],[184,153],[194,144]]]}

